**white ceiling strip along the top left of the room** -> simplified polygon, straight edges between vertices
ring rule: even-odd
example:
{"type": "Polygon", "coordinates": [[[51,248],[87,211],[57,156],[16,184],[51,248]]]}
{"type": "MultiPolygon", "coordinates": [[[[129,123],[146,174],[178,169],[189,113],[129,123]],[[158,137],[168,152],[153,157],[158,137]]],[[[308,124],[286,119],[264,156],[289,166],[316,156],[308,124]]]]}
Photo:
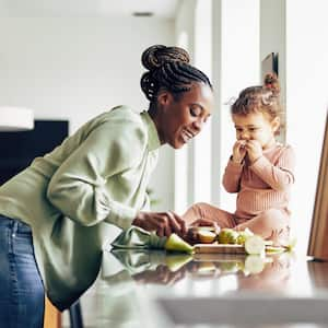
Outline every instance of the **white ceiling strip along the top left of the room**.
{"type": "Polygon", "coordinates": [[[153,12],[173,19],[181,0],[0,0],[2,17],[131,16],[153,12]]]}

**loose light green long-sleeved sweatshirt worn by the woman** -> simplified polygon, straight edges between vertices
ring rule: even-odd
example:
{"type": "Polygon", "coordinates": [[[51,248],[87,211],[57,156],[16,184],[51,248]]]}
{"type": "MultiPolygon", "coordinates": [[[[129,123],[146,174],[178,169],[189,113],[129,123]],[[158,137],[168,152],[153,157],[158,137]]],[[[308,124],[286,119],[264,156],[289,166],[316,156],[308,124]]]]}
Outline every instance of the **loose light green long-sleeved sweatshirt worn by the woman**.
{"type": "Polygon", "coordinates": [[[96,278],[112,224],[126,230],[149,208],[159,148],[149,114],[119,106],[0,187],[0,213],[32,227],[37,265],[57,307],[70,305],[96,278]]]}

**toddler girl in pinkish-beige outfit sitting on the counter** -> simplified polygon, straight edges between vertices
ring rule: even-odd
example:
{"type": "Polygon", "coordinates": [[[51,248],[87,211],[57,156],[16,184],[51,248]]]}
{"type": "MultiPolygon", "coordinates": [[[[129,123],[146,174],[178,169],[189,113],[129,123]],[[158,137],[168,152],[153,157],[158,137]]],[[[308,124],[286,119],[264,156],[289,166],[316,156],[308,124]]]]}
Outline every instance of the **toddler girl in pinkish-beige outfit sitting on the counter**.
{"type": "Polygon", "coordinates": [[[248,227],[277,246],[288,243],[294,151],[274,138],[281,126],[279,92],[277,77],[267,74],[263,86],[246,87],[231,107],[236,142],[223,186],[227,192],[237,192],[236,211],[196,203],[184,214],[187,224],[206,219],[221,229],[248,227]]]}

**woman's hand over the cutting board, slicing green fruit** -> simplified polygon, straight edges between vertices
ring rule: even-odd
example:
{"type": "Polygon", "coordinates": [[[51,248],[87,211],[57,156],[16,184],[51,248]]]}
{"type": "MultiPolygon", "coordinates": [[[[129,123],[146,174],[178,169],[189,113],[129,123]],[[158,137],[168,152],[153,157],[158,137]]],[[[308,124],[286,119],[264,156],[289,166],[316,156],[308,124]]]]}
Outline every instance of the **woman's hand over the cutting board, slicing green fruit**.
{"type": "Polygon", "coordinates": [[[172,233],[184,236],[187,233],[186,222],[171,211],[139,212],[132,224],[147,231],[155,231],[160,237],[168,237],[172,233]]]}

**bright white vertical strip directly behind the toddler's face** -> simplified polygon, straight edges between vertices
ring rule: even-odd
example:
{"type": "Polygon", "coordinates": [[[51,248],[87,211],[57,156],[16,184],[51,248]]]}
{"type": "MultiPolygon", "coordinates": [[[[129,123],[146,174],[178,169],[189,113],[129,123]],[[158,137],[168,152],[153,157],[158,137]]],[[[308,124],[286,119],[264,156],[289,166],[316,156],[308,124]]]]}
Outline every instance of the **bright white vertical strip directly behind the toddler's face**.
{"type": "Polygon", "coordinates": [[[222,0],[222,37],[221,37],[221,99],[220,130],[220,167],[213,167],[220,176],[220,207],[230,212],[235,211],[235,194],[227,194],[222,187],[222,176],[232,147],[235,142],[235,128],[231,119],[230,103],[232,97],[250,85],[259,83],[259,0],[239,1],[222,0]]]}

